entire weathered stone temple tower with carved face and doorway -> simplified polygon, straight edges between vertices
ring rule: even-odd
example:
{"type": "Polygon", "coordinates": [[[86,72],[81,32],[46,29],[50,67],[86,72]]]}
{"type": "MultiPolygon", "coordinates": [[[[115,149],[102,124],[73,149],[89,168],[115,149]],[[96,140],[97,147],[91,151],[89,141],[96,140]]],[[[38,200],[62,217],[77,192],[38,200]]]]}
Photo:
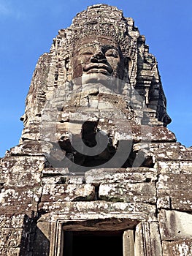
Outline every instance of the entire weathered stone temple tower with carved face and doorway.
{"type": "Polygon", "coordinates": [[[97,4],[40,56],[0,165],[0,255],[192,255],[192,148],[132,18],[97,4]]]}

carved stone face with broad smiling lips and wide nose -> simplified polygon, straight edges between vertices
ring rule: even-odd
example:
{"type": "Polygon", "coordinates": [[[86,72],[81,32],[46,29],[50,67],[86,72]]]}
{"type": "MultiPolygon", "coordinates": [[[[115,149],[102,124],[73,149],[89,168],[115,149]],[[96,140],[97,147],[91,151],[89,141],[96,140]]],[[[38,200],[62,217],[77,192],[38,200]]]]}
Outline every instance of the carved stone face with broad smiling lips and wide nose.
{"type": "Polygon", "coordinates": [[[82,75],[108,75],[123,79],[123,55],[117,42],[109,37],[89,37],[77,46],[72,57],[73,78],[82,75]]]}

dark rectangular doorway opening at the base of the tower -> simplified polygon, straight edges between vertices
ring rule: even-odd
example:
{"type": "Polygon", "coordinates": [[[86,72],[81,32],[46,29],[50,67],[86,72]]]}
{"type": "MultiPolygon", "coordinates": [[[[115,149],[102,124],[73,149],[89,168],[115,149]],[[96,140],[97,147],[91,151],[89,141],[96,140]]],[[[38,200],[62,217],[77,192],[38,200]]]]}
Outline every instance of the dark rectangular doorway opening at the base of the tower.
{"type": "Polygon", "coordinates": [[[122,256],[121,231],[66,231],[64,256],[122,256]]]}

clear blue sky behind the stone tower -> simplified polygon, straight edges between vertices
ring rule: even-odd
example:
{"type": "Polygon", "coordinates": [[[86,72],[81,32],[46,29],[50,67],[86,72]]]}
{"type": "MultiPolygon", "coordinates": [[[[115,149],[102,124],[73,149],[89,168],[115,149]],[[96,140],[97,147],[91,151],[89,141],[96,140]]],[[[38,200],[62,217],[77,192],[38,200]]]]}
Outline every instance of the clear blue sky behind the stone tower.
{"type": "Polygon", "coordinates": [[[92,4],[110,4],[134,18],[155,55],[177,141],[192,146],[191,0],[0,0],[0,157],[19,142],[19,120],[37,59],[59,29],[92,4]]]}

